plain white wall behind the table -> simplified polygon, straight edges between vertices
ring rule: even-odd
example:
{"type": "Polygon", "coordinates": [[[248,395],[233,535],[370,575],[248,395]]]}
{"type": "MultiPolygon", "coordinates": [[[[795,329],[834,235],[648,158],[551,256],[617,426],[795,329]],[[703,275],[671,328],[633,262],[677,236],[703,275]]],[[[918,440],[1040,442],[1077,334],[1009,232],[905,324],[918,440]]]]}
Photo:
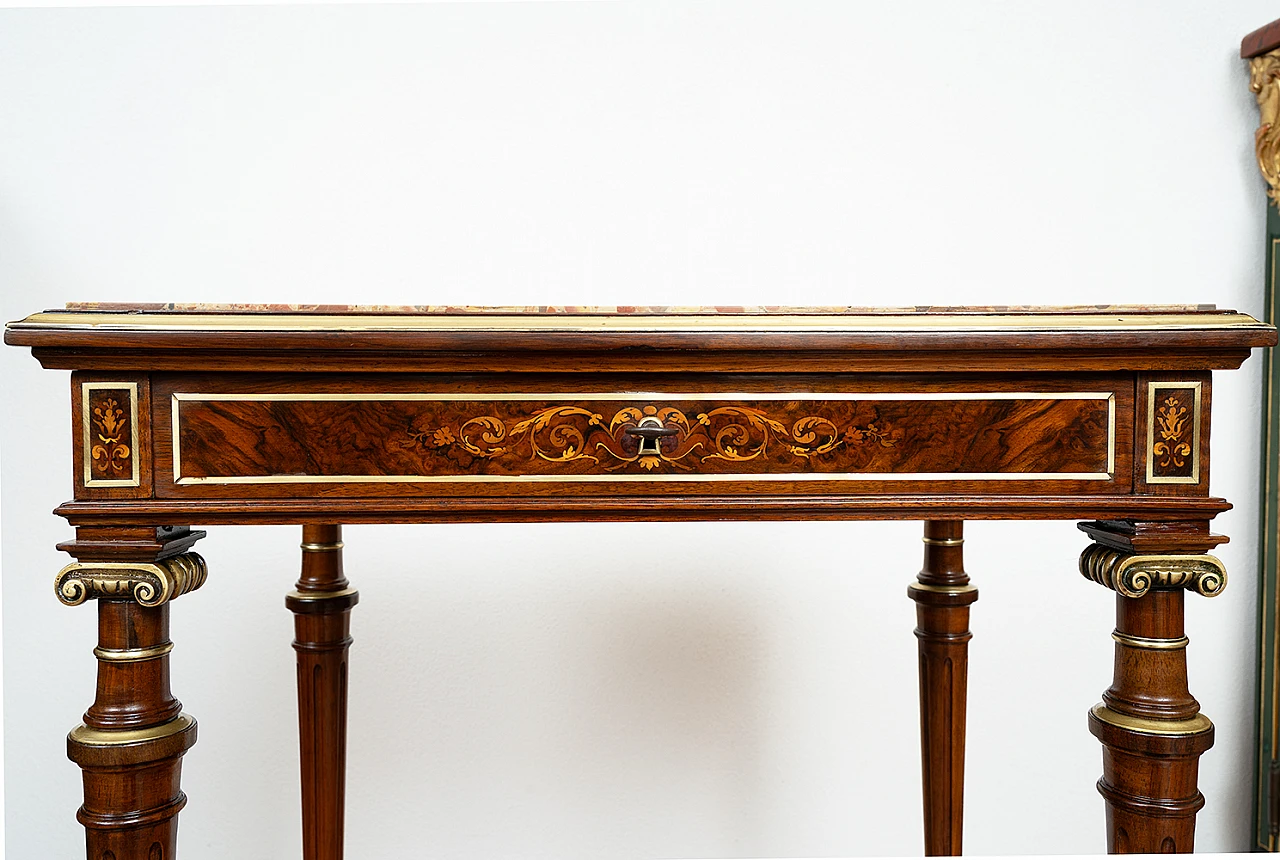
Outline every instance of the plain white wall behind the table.
{"type": "MultiPolygon", "coordinates": [[[[1217,302],[1260,314],[1240,36],[1274,3],[0,12],[0,310],[68,299],[1217,302]]],[[[69,857],[93,610],[52,595],[67,379],[0,351],[8,847],[69,857]]],[[[1215,380],[1189,600],[1203,850],[1248,845],[1258,362],[1215,380]]],[[[200,523],[195,523],[200,525],[200,523]]],[[[918,523],[353,527],[348,856],[920,851],[918,523]]],[[[1103,848],[1112,599],[973,523],[966,847],[1103,848]]],[[[174,608],[187,860],[296,856],[298,530],[174,608]]]]}

